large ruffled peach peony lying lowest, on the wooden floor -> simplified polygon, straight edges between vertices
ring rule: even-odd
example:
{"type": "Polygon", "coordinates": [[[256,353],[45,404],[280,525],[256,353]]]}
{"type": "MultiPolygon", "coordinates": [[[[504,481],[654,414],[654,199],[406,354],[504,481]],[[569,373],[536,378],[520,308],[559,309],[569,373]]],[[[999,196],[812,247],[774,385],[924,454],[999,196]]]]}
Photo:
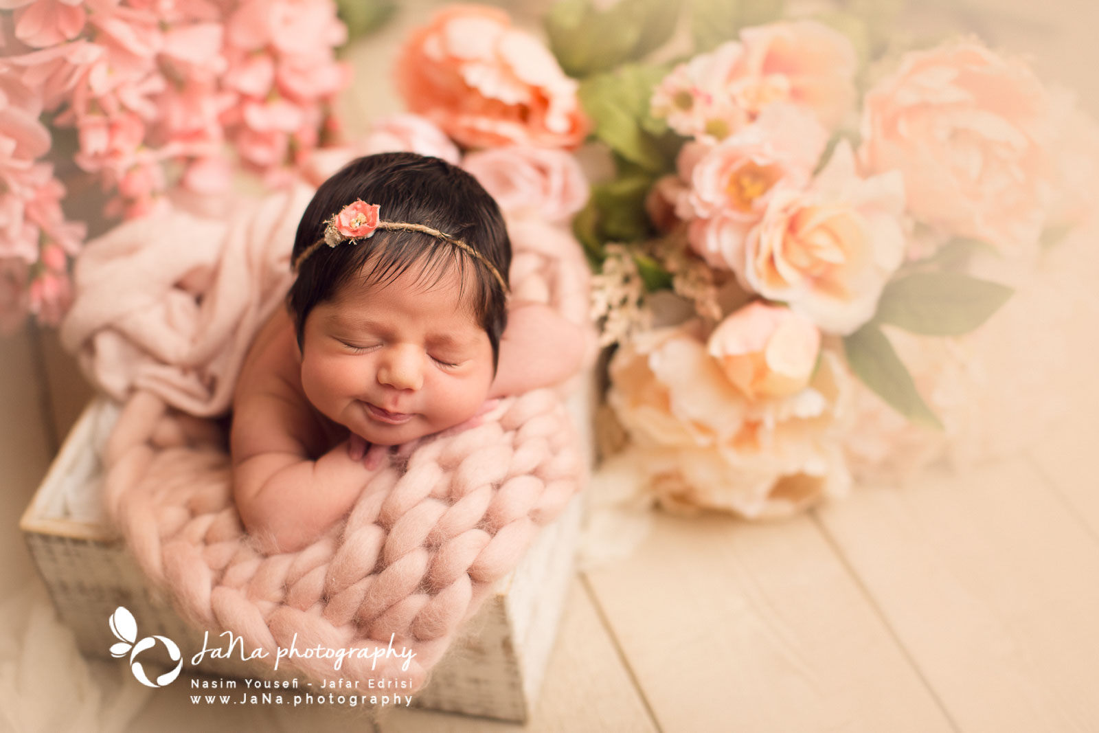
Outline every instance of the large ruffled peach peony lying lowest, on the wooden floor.
{"type": "Polygon", "coordinates": [[[850,489],[835,425],[851,381],[831,352],[804,389],[748,400],[689,323],[623,344],[610,375],[608,401],[665,507],[759,519],[850,489]]]}

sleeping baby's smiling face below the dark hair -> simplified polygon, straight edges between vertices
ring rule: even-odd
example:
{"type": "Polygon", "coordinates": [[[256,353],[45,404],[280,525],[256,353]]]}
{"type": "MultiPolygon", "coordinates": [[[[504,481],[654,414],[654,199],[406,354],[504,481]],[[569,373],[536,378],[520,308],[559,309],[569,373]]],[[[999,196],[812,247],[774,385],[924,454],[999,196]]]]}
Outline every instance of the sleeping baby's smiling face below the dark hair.
{"type": "Polygon", "coordinates": [[[376,445],[465,422],[492,384],[492,346],[458,299],[457,273],[419,276],[413,265],[387,285],[353,278],[306,320],[306,397],[376,445]]]}

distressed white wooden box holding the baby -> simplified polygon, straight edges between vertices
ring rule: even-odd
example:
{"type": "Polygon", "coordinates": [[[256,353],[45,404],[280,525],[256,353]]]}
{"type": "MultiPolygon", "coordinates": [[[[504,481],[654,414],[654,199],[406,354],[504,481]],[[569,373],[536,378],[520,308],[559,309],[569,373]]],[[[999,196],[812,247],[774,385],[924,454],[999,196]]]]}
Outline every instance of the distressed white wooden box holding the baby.
{"type": "MultiPolygon", "coordinates": [[[[589,395],[574,396],[569,409],[587,446],[589,395]]],[[[20,529],[62,620],[75,632],[80,651],[109,657],[116,640],[108,619],[119,606],[137,619],[142,636],[167,636],[184,652],[185,671],[219,677],[289,679],[270,666],[238,659],[190,655],[202,648],[203,632],[188,626],[167,599],[148,587],[120,536],[102,520],[67,515],[73,487],[92,512],[102,482],[102,444],[119,408],[97,398],[65,440],[20,529]],[[86,493],[87,492],[87,493],[86,493]]],[[[588,452],[590,455],[590,451],[588,452]]],[[[435,666],[431,682],[412,704],[433,710],[525,722],[542,684],[567,590],[575,571],[576,547],[587,493],[580,491],[565,512],[537,536],[517,568],[501,578],[478,613],[462,629],[435,666]]],[[[101,507],[98,508],[102,517],[101,507]]]]}

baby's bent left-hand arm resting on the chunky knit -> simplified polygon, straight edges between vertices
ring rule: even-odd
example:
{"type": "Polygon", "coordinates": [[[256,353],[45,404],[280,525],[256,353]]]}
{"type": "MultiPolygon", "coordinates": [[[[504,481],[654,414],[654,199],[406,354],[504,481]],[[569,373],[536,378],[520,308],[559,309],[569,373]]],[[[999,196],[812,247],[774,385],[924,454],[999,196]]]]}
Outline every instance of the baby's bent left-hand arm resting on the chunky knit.
{"type": "Polygon", "coordinates": [[[267,553],[297,552],[345,515],[366,485],[343,442],[317,460],[295,435],[301,415],[286,400],[249,396],[233,417],[233,493],[248,534],[267,553]]]}

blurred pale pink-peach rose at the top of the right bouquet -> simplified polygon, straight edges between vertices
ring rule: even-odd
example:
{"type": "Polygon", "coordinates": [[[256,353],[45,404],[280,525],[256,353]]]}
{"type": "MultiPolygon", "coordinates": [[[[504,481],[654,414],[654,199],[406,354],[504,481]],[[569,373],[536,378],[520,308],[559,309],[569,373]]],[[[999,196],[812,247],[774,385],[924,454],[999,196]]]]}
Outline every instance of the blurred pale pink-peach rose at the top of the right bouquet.
{"type": "Polygon", "coordinates": [[[858,59],[845,35],[802,20],[741,31],[744,55],[731,86],[737,105],[755,118],[769,104],[792,102],[835,129],[855,100],[858,59]]]}

